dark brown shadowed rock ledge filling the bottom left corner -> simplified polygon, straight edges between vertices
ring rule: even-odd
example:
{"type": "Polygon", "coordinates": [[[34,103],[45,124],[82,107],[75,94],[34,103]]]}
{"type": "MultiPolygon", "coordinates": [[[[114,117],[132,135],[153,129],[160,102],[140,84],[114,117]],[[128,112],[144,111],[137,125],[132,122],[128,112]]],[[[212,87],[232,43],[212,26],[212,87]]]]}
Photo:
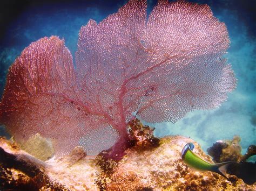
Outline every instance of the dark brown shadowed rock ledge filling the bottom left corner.
{"type": "Polygon", "coordinates": [[[17,144],[0,138],[0,190],[68,190],[49,178],[47,167],[17,144]]]}

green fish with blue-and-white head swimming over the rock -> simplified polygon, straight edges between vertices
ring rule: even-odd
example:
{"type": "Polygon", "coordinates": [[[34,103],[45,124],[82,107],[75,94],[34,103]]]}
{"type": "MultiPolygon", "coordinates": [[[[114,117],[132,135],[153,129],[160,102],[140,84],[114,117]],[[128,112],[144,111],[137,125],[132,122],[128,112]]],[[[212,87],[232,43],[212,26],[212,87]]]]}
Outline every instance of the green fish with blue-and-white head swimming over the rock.
{"type": "Polygon", "coordinates": [[[227,179],[227,166],[235,162],[221,162],[218,164],[210,164],[209,162],[201,159],[197,154],[193,153],[193,148],[193,143],[187,143],[181,151],[181,158],[188,166],[199,171],[215,172],[220,174],[221,176],[224,176],[227,179]]]}

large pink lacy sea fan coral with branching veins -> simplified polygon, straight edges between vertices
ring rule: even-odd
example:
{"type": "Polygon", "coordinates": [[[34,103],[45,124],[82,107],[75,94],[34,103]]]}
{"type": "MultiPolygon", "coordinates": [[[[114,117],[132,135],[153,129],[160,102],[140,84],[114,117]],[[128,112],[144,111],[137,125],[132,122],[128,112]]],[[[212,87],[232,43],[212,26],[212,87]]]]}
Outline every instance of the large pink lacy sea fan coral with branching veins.
{"type": "Polygon", "coordinates": [[[76,69],[58,37],[25,48],[9,69],[0,122],[19,142],[38,132],[51,138],[57,154],[86,145],[93,130],[98,145],[118,132],[118,153],[137,109],[147,122],[176,122],[223,102],[236,81],[223,59],[228,45],[207,5],[159,1],[147,20],[146,1],[131,0],[82,26],[76,69]],[[99,131],[106,128],[116,131],[99,131]]]}

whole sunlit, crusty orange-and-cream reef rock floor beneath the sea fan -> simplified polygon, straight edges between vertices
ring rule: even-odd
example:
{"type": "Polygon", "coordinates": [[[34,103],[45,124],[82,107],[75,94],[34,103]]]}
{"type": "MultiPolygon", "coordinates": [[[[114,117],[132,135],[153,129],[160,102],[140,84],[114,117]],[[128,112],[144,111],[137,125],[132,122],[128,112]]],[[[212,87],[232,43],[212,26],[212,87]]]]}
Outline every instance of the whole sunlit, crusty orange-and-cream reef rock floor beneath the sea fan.
{"type": "Polygon", "coordinates": [[[151,149],[129,148],[119,162],[86,156],[80,148],[43,162],[8,140],[0,140],[1,190],[17,188],[18,183],[26,188],[33,183],[33,188],[42,190],[256,190],[255,184],[246,185],[234,175],[227,180],[190,169],[180,157],[188,142],[201,158],[212,160],[196,142],[181,136],[161,138],[159,146],[151,149]]]}

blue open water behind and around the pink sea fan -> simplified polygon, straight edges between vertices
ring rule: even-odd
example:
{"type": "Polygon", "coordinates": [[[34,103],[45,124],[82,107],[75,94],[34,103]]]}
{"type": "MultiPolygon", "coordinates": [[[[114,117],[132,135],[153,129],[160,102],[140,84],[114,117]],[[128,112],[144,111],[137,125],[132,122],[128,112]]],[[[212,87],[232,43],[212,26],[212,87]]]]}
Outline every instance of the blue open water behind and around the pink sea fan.
{"type": "MultiPolygon", "coordinates": [[[[17,2],[6,6],[21,4],[17,2]]],[[[4,23],[0,39],[0,95],[9,66],[31,42],[56,35],[65,39],[65,46],[75,55],[80,27],[90,18],[100,22],[126,1],[25,2],[21,10],[12,9],[13,12],[1,16],[8,22],[4,23]]],[[[237,89],[220,108],[190,112],[175,124],[164,122],[151,126],[156,127],[156,136],[191,137],[205,151],[217,140],[238,135],[245,153],[249,145],[256,145],[256,1],[193,2],[210,5],[214,16],[226,23],[231,40],[226,58],[238,79],[237,89]]],[[[154,4],[156,1],[148,1],[149,12],[154,4]]],[[[4,133],[3,128],[1,132],[4,133]]]]}

